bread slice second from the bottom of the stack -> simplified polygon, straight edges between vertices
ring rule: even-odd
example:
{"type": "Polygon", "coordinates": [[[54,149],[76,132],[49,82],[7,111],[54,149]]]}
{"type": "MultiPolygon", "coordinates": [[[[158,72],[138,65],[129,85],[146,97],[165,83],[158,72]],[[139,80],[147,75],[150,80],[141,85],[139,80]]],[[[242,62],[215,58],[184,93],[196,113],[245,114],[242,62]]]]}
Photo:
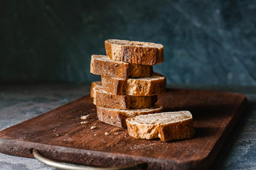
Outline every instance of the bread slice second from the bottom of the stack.
{"type": "Polygon", "coordinates": [[[102,86],[95,88],[94,103],[103,108],[149,108],[154,106],[157,96],[124,96],[107,93],[102,86]]]}

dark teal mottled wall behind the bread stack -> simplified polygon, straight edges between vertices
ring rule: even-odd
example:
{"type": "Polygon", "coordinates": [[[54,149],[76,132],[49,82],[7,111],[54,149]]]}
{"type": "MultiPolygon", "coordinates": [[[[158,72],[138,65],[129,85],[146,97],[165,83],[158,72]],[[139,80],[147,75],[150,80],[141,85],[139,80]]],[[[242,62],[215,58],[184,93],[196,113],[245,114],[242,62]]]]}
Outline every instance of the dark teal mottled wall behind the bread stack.
{"type": "Polygon", "coordinates": [[[169,84],[256,84],[256,1],[0,1],[0,80],[78,81],[116,38],[164,45],[169,84]]]}

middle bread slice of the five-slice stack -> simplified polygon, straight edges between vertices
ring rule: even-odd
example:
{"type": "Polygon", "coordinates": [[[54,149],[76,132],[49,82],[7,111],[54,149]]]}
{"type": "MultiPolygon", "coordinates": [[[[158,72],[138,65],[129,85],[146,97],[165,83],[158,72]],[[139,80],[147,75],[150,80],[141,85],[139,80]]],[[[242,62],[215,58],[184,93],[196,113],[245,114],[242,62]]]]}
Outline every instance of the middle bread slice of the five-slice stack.
{"type": "Polygon", "coordinates": [[[166,79],[161,74],[154,73],[151,77],[118,79],[102,76],[102,88],[116,95],[154,96],[163,94],[166,79]]]}

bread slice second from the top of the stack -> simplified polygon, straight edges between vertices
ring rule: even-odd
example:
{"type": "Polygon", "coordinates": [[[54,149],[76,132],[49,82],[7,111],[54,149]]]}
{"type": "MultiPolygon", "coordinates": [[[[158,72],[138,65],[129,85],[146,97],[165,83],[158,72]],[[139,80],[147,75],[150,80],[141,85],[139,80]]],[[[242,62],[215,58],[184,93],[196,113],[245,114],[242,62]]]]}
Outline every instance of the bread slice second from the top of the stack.
{"type": "Polygon", "coordinates": [[[113,61],[110,60],[107,55],[92,55],[90,72],[107,77],[128,79],[128,77],[149,77],[153,73],[153,67],[149,65],[113,61]]]}

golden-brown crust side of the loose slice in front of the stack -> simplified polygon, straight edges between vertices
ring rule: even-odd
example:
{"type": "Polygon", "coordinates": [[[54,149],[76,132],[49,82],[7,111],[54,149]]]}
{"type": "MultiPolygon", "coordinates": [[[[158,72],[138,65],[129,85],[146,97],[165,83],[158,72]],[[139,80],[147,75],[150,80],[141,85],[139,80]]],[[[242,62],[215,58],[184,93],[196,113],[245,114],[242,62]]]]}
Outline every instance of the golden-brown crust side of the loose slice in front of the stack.
{"type": "MultiPolygon", "coordinates": [[[[148,116],[151,116],[151,119],[153,119],[156,115],[148,116]]],[[[135,119],[127,118],[126,123],[129,135],[137,139],[151,140],[159,137],[162,141],[169,141],[189,139],[194,135],[192,115],[191,118],[184,118],[184,120],[164,124],[157,121],[156,123],[136,123],[135,119]]]]}

